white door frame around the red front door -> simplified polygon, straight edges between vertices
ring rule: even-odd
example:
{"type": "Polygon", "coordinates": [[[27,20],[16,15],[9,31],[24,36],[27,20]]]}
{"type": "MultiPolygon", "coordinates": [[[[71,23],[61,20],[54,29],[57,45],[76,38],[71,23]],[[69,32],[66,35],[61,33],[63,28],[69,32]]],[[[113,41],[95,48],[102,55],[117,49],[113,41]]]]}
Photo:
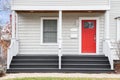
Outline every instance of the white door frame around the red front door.
{"type": "Polygon", "coordinates": [[[79,17],[79,54],[80,55],[99,55],[99,17],[79,17]],[[96,53],[83,54],[82,51],[82,20],[96,20],[96,53]]]}

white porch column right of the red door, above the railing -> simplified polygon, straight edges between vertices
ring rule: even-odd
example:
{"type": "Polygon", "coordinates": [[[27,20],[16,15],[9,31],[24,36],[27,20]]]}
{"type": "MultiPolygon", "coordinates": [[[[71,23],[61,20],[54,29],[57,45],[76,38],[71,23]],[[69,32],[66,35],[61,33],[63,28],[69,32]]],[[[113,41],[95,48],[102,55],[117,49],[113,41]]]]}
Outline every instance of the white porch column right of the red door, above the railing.
{"type": "Polygon", "coordinates": [[[109,40],[109,38],[110,38],[110,33],[109,33],[109,31],[110,31],[110,26],[109,26],[109,13],[110,11],[109,10],[107,10],[106,12],[105,12],[105,36],[104,36],[104,39],[105,40],[109,40]]]}

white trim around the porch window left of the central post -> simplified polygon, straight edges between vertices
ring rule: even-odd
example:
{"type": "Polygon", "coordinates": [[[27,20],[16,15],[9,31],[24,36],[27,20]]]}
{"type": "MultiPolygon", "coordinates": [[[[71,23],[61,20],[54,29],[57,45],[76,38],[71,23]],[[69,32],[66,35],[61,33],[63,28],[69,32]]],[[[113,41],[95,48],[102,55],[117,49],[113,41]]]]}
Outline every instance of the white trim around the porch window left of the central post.
{"type": "Polygon", "coordinates": [[[41,17],[41,45],[58,45],[58,17],[41,17]],[[57,43],[43,43],[43,20],[57,20],[57,43]]]}

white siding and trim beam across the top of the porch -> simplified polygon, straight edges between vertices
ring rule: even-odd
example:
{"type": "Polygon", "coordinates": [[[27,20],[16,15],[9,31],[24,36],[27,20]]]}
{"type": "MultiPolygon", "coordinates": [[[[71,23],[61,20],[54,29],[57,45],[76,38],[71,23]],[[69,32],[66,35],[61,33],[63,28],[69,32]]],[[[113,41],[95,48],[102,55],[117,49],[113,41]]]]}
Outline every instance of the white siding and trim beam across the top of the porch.
{"type": "Polygon", "coordinates": [[[109,0],[12,0],[11,10],[109,10],[109,0]]]}

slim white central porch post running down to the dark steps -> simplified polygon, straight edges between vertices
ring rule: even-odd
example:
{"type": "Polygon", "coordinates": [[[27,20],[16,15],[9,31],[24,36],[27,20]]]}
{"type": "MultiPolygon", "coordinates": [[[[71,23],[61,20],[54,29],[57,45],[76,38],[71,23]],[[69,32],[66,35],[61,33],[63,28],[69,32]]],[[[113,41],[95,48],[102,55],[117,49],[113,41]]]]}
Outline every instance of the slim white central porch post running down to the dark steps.
{"type": "Polygon", "coordinates": [[[61,69],[61,49],[62,49],[62,11],[59,11],[59,34],[58,34],[58,40],[59,40],[59,69],[61,69]]]}

